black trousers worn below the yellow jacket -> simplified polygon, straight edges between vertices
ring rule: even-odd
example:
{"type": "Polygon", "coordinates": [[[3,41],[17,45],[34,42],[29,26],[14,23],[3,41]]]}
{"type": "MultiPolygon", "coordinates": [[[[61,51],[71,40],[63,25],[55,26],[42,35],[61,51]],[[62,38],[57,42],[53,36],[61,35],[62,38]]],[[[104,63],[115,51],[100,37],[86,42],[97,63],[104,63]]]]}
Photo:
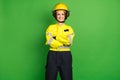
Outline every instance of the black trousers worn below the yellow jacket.
{"type": "Polygon", "coordinates": [[[45,80],[72,80],[72,55],[70,51],[49,51],[47,56],[45,80]]]}

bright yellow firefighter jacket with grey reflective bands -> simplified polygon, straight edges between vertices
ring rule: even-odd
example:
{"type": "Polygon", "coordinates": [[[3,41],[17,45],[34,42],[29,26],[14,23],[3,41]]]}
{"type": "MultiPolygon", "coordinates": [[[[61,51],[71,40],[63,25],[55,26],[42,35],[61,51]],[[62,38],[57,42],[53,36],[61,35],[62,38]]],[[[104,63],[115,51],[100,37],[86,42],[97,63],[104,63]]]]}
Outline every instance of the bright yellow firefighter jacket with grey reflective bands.
{"type": "Polygon", "coordinates": [[[46,30],[46,45],[52,51],[70,51],[73,37],[74,32],[70,26],[53,24],[46,30]]]}

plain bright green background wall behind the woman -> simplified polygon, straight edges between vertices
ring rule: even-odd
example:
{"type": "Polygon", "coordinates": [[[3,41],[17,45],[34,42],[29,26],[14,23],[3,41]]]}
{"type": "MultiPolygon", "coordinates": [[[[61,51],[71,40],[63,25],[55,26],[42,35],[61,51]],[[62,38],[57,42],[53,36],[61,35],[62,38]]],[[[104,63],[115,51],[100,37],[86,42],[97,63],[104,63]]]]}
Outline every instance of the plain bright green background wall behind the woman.
{"type": "Polygon", "coordinates": [[[45,80],[45,30],[58,2],[71,12],[74,80],[120,80],[120,0],[0,0],[0,80],[45,80]]]}

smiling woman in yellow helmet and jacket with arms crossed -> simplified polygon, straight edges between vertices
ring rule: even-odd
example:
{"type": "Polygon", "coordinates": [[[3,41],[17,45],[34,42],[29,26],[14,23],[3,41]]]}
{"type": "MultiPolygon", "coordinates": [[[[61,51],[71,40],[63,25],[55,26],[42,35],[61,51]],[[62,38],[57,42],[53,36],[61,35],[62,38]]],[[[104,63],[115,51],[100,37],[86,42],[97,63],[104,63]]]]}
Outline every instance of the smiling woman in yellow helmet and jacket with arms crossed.
{"type": "Polygon", "coordinates": [[[50,46],[46,63],[46,80],[57,80],[60,72],[61,80],[72,80],[72,55],[70,46],[73,41],[73,29],[64,22],[69,16],[68,8],[63,3],[54,7],[53,16],[56,24],[46,30],[46,45],[50,46]]]}

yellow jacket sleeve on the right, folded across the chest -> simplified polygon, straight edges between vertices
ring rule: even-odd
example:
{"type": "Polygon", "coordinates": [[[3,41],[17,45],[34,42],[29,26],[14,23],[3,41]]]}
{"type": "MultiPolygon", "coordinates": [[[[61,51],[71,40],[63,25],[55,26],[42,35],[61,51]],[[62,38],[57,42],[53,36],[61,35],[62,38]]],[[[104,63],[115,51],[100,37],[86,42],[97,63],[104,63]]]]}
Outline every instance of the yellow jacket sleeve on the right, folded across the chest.
{"type": "Polygon", "coordinates": [[[56,39],[60,42],[62,42],[64,45],[71,45],[73,42],[73,37],[74,37],[74,31],[73,29],[70,27],[69,28],[69,32],[67,32],[67,34],[62,34],[56,37],[56,39]]]}

